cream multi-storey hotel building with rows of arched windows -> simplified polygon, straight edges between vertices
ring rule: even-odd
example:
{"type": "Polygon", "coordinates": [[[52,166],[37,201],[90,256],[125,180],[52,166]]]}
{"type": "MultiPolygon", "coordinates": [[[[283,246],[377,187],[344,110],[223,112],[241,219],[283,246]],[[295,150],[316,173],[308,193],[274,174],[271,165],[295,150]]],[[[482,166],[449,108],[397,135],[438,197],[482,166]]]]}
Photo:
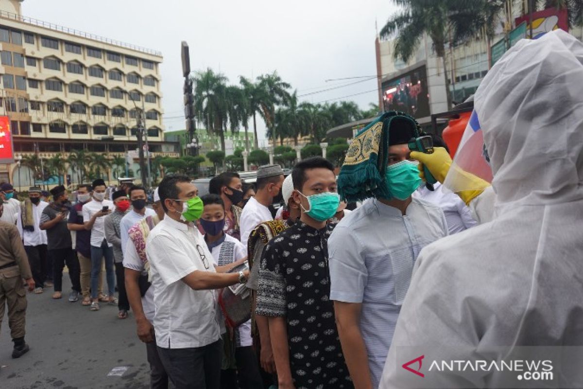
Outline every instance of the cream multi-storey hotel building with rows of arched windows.
{"type": "Polygon", "coordinates": [[[15,155],[135,156],[143,108],[150,155],[174,156],[162,150],[161,52],[24,17],[22,1],[0,1],[0,115],[15,155]]]}

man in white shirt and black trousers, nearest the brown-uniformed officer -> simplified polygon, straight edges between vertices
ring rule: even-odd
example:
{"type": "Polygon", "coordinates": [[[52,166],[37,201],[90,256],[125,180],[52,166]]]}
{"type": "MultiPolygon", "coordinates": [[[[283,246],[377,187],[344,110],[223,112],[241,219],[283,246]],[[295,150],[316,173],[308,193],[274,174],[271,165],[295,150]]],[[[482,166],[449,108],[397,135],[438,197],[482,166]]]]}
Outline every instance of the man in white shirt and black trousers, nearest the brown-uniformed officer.
{"type": "Polygon", "coordinates": [[[41,201],[40,192],[38,187],[29,188],[29,198],[20,206],[20,215],[16,218],[16,226],[22,236],[24,250],[33,272],[34,293],[37,294],[43,293],[48,271],[47,232],[40,229],[41,215],[48,203],[41,201]]]}

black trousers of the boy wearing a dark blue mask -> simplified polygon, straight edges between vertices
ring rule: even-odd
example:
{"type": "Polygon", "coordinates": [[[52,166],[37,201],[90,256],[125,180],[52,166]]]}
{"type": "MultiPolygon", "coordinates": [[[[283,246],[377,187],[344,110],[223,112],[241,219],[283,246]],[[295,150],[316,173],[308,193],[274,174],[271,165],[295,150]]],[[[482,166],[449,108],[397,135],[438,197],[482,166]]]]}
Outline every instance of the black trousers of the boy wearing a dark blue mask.
{"type": "Polygon", "coordinates": [[[259,373],[257,356],[253,351],[253,347],[237,347],[235,349],[235,360],[237,370],[221,370],[221,388],[263,389],[263,379],[261,373],[259,373]]]}

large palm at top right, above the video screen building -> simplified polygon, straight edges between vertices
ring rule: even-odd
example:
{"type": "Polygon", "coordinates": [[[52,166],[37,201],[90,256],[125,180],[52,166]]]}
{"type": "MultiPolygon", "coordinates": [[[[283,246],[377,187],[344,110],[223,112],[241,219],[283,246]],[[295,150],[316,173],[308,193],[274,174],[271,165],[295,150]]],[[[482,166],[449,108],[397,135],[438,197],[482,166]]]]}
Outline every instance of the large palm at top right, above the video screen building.
{"type": "Polygon", "coordinates": [[[451,93],[445,61],[445,43],[461,43],[485,30],[493,36],[494,20],[504,7],[503,0],[392,0],[401,12],[382,27],[382,37],[396,36],[394,56],[407,62],[427,34],[433,41],[437,57],[441,58],[445,74],[448,108],[451,93]]]}

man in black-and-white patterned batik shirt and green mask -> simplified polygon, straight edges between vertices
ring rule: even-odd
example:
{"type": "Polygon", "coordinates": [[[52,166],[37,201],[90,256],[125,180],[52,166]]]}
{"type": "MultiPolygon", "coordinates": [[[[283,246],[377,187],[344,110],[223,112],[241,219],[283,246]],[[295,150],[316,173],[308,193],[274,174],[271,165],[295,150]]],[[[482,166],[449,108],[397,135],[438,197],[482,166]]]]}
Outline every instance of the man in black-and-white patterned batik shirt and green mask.
{"type": "Polygon", "coordinates": [[[334,166],[313,157],[291,176],[300,220],[265,247],[255,313],[269,320],[279,389],[352,388],[329,299],[327,221],[340,203],[334,166]]]}

